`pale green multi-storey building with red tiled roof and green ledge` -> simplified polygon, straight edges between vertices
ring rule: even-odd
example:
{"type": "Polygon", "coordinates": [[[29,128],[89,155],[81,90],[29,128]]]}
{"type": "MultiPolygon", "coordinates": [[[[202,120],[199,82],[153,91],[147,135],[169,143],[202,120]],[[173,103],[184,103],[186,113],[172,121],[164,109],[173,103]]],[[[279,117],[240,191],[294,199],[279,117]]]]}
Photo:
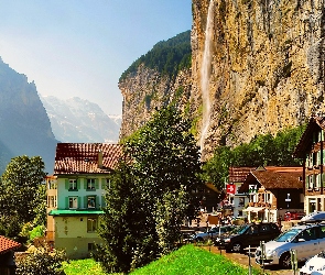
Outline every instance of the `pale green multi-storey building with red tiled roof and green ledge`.
{"type": "Polygon", "coordinates": [[[54,174],[47,184],[46,240],[69,258],[83,258],[99,243],[96,231],[104,213],[109,175],[121,146],[106,143],[58,143],[54,174]]]}

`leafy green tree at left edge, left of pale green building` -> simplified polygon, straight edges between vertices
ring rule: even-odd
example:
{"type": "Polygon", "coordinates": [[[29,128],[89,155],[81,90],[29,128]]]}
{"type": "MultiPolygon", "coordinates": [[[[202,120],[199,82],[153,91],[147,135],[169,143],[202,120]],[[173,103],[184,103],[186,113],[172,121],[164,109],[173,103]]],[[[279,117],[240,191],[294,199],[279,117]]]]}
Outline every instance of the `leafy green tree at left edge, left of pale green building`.
{"type": "Polygon", "coordinates": [[[8,164],[0,185],[0,224],[6,224],[0,226],[2,234],[17,237],[24,223],[45,221],[44,169],[40,156],[17,156],[8,164]]]}

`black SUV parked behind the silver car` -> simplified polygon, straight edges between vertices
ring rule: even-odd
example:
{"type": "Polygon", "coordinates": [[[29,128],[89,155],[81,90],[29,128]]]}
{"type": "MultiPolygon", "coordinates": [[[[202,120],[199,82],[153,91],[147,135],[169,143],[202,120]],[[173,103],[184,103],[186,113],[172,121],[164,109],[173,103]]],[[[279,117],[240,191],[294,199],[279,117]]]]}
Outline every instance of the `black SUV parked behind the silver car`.
{"type": "Polygon", "coordinates": [[[271,241],[280,233],[279,227],[273,222],[248,223],[236,228],[229,234],[216,238],[215,245],[227,252],[241,252],[249,245],[259,246],[261,241],[271,241]]]}

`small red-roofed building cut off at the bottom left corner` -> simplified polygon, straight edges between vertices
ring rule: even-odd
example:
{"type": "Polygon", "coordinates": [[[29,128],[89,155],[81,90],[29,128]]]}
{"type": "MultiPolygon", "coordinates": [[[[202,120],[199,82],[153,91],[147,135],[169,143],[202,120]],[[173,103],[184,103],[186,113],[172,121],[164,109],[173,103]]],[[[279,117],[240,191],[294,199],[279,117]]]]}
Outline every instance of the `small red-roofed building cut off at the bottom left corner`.
{"type": "Polygon", "coordinates": [[[15,264],[13,255],[14,251],[20,246],[20,243],[0,235],[0,274],[14,274],[15,264]]]}

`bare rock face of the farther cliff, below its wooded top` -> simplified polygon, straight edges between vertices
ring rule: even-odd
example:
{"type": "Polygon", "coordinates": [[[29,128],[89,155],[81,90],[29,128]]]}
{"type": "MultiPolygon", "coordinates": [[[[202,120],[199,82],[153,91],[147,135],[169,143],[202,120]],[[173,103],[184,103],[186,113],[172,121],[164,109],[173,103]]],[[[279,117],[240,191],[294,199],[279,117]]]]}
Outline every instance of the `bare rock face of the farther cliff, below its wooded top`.
{"type": "Polygon", "coordinates": [[[132,134],[143,125],[155,111],[173,100],[184,110],[188,103],[192,87],[191,69],[181,70],[176,78],[162,76],[155,69],[143,65],[131,74],[119,88],[123,96],[120,138],[132,134]]]}

